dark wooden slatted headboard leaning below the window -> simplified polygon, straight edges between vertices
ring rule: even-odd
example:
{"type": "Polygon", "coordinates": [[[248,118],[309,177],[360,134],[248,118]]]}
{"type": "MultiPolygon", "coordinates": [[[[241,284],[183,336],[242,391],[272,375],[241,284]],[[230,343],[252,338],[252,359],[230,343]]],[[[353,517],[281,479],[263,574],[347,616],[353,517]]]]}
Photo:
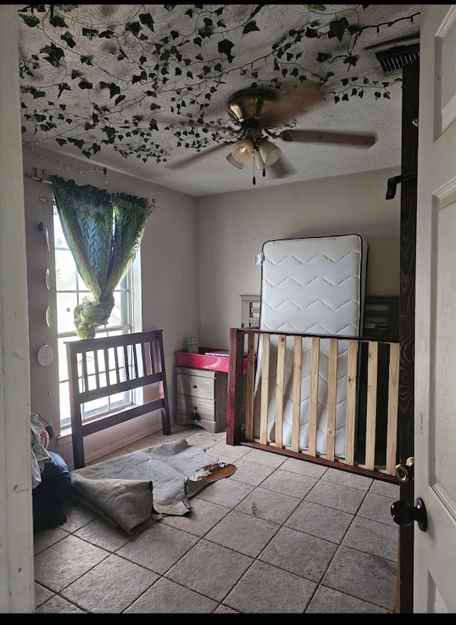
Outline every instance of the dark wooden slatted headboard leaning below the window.
{"type": "Polygon", "coordinates": [[[163,434],[171,433],[162,330],[70,341],[66,353],[75,469],[85,465],[85,436],[139,415],[160,409],[163,434]],[[83,423],[83,404],[135,390],[140,403],[83,423]]]}

